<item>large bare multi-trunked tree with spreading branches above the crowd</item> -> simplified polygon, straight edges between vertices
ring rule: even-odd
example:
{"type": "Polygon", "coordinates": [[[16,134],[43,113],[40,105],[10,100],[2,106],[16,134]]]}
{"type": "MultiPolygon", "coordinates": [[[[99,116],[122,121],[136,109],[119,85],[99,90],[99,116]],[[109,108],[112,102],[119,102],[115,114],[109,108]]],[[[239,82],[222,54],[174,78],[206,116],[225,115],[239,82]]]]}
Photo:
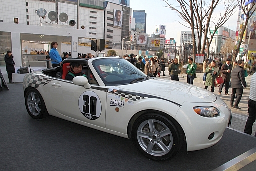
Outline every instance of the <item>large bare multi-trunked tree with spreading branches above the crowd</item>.
{"type": "MultiPolygon", "coordinates": [[[[204,53],[206,44],[207,47],[212,42],[212,37],[218,28],[220,28],[224,23],[235,13],[234,8],[236,8],[237,2],[236,0],[211,0],[209,4],[205,2],[205,0],[189,0],[189,3],[184,0],[176,0],[180,6],[175,6],[169,3],[169,0],[163,0],[166,2],[167,6],[172,10],[175,10],[179,17],[185,22],[185,24],[181,23],[187,28],[192,30],[193,37],[193,58],[195,59],[195,54],[204,53]],[[225,13],[219,14],[219,16],[212,18],[212,15],[217,8],[217,6],[224,4],[225,13]],[[216,19],[218,18],[218,19],[216,19]],[[206,24],[205,24],[206,23],[206,24]],[[208,39],[209,26],[213,23],[215,26],[215,30],[210,33],[211,38],[208,39]],[[194,30],[197,30],[198,34],[198,45],[196,45],[194,30]],[[204,40],[202,41],[202,35],[204,34],[204,40]],[[202,46],[201,46],[202,44],[202,46]],[[198,48],[198,49],[197,49],[198,48]],[[202,50],[201,50],[202,48],[202,50]]],[[[209,57],[209,48],[208,56],[209,57]]]]}

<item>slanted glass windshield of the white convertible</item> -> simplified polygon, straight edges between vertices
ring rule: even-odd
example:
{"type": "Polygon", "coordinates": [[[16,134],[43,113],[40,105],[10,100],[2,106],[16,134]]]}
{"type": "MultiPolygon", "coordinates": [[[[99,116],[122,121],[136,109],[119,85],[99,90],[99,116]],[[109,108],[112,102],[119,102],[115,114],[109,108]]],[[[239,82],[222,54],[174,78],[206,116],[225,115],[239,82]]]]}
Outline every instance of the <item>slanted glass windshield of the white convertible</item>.
{"type": "Polygon", "coordinates": [[[149,79],[146,74],[122,58],[101,58],[92,62],[105,85],[124,85],[149,79]]]}

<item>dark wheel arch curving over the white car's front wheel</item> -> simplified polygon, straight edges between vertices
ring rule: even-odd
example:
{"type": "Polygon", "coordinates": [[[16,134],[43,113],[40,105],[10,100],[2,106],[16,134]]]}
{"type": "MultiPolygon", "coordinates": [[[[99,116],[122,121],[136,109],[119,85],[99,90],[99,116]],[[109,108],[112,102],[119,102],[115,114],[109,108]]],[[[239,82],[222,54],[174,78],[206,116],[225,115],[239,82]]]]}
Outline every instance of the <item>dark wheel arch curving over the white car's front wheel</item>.
{"type": "Polygon", "coordinates": [[[134,122],[141,116],[147,114],[147,113],[156,113],[156,114],[161,114],[165,117],[167,117],[168,119],[170,119],[175,125],[177,125],[177,129],[178,129],[178,133],[180,134],[180,138],[184,138],[184,140],[186,141],[186,136],[185,136],[185,133],[184,133],[184,130],[183,128],[181,127],[181,125],[170,115],[162,112],[162,111],[158,111],[158,110],[153,110],[153,109],[149,109],[149,110],[142,110],[142,111],[139,111],[137,112],[136,114],[134,114],[132,116],[132,118],[130,119],[129,123],[128,123],[128,127],[127,127],[127,134],[128,134],[128,137],[131,138],[131,132],[132,132],[132,127],[133,127],[133,124],[134,122]]]}

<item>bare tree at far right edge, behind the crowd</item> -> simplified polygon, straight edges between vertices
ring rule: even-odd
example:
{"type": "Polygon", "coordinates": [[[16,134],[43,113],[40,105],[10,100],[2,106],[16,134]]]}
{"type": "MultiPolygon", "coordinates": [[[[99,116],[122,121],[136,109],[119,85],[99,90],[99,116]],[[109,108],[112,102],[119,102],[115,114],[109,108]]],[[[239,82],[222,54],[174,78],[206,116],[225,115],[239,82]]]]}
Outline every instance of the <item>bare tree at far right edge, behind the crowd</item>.
{"type": "Polygon", "coordinates": [[[245,6],[244,0],[237,0],[237,1],[239,2],[239,7],[240,7],[240,9],[242,10],[242,12],[244,14],[244,17],[243,17],[244,19],[243,19],[243,23],[240,23],[240,24],[242,24],[243,27],[242,27],[241,31],[239,32],[239,39],[238,39],[238,43],[237,43],[237,48],[235,49],[235,54],[234,54],[234,57],[232,59],[232,62],[235,60],[235,58],[239,54],[241,44],[245,43],[245,42],[242,41],[243,34],[244,34],[244,32],[245,32],[245,30],[248,26],[248,22],[249,22],[251,16],[253,15],[253,13],[256,10],[256,0],[251,1],[251,3],[246,5],[246,6],[245,6]]]}

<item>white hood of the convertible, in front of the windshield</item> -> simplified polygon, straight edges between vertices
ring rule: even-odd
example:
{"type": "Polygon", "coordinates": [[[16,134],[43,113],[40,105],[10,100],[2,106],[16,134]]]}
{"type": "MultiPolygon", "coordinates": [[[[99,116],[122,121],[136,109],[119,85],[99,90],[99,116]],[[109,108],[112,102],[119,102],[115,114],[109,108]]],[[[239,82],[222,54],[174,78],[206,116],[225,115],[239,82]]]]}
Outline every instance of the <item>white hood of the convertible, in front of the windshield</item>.
{"type": "Polygon", "coordinates": [[[215,94],[206,89],[172,80],[149,79],[128,85],[118,85],[116,87],[123,91],[132,91],[161,97],[181,105],[183,102],[209,103],[217,99],[215,94]]]}

